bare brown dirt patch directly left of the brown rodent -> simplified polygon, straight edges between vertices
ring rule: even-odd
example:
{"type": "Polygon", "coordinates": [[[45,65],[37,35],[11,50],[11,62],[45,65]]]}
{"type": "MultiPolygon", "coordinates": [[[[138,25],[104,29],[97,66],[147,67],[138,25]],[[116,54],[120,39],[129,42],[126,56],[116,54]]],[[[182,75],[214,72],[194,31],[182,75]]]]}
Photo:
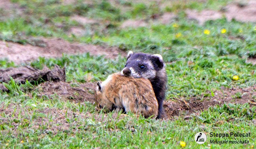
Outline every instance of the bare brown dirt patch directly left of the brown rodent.
{"type": "Polygon", "coordinates": [[[47,96],[51,98],[52,95],[56,94],[66,100],[74,101],[89,101],[94,102],[94,88],[96,83],[75,83],[70,84],[67,82],[44,82],[38,85],[37,90],[39,91],[38,96],[47,96]]]}

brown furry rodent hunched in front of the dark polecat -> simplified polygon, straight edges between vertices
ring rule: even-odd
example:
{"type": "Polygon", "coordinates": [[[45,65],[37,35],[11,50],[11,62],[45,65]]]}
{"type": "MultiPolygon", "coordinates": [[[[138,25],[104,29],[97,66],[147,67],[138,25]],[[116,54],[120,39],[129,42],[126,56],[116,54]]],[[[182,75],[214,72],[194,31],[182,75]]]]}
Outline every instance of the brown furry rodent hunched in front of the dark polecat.
{"type": "Polygon", "coordinates": [[[158,114],[158,102],[149,80],[145,78],[125,77],[120,73],[111,74],[107,82],[102,82],[102,91],[95,91],[97,107],[105,106],[111,110],[125,108],[133,113],[141,113],[144,117],[156,117],[158,114]]]}

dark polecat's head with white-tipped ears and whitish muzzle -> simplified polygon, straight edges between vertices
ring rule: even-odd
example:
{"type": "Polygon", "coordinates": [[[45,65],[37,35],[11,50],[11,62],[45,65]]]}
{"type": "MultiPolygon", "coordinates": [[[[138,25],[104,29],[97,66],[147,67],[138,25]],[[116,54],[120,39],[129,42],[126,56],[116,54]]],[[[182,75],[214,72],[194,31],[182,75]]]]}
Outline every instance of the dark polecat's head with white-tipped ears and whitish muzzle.
{"type": "Polygon", "coordinates": [[[125,67],[121,73],[125,76],[150,79],[155,78],[157,71],[162,69],[163,66],[163,58],[160,54],[150,55],[129,51],[125,67]]]}

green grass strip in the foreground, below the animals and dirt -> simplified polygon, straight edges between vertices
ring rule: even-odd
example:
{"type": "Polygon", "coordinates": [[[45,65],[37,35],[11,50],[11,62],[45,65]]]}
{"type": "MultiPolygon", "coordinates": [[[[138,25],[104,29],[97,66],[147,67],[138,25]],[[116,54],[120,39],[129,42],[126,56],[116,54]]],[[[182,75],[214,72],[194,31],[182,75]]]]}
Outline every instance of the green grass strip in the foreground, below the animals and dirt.
{"type": "MultiPolygon", "coordinates": [[[[193,118],[189,121],[183,118],[173,121],[154,120],[137,118],[131,113],[127,116],[120,113],[112,116],[113,112],[102,114],[102,111],[95,111],[94,105],[90,102],[79,104],[58,100],[56,97],[42,99],[36,96],[36,92],[32,93],[31,98],[25,92],[21,92],[15,83],[10,83],[10,86],[16,90],[15,93],[0,95],[3,105],[1,118],[7,119],[1,123],[1,148],[181,148],[179,141],[186,142],[185,148],[225,146],[208,146],[208,141],[203,145],[196,144],[193,139],[198,131],[205,131],[208,140],[216,139],[209,137],[210,132],[251,132],[252,136],[248,138],[249,145],[254,144],[255,127],[251,120],[255,118],[256,112],[255,106],[250,107],[249,104],[210,107],[201,114],[192,114],[193,118]],[[36,107],[31,104],[35,104],[36,107]],[[5,109],[10,111],[6,113],[5,109]],[[59,113],[63,115],[62,118],[55,113],[56,111],[62,111],[59,113]],[[58,121],[59,119],[65,121],[67,126],[63,126],[64,130],[54,131],[53,128],[63,124],[58,121]],[[205,130],[199,127],[202,124],[205,130]],[[21,141],[23,143],[20,143],[21,141]]],[[[241,148],[249,145],[235,146],[241,148]]],[[[232,148],[228,146],[226,148],[232,148]]]]}

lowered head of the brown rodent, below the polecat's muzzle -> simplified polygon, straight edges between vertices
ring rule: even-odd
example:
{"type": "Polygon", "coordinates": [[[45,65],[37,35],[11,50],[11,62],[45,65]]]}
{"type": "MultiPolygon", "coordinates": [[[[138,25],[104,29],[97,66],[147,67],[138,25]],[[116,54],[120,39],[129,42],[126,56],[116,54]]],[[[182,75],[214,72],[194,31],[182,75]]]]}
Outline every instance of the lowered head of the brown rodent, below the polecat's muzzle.
{"type": "Polygon", "coordinates": [[[99,109],[104,108],[106,111],[114,110],[114,104],[107,98],[104,86],[101,86],[101,83],[98,82],[96,90],[94,93],[95,103],[99,109]]]}

